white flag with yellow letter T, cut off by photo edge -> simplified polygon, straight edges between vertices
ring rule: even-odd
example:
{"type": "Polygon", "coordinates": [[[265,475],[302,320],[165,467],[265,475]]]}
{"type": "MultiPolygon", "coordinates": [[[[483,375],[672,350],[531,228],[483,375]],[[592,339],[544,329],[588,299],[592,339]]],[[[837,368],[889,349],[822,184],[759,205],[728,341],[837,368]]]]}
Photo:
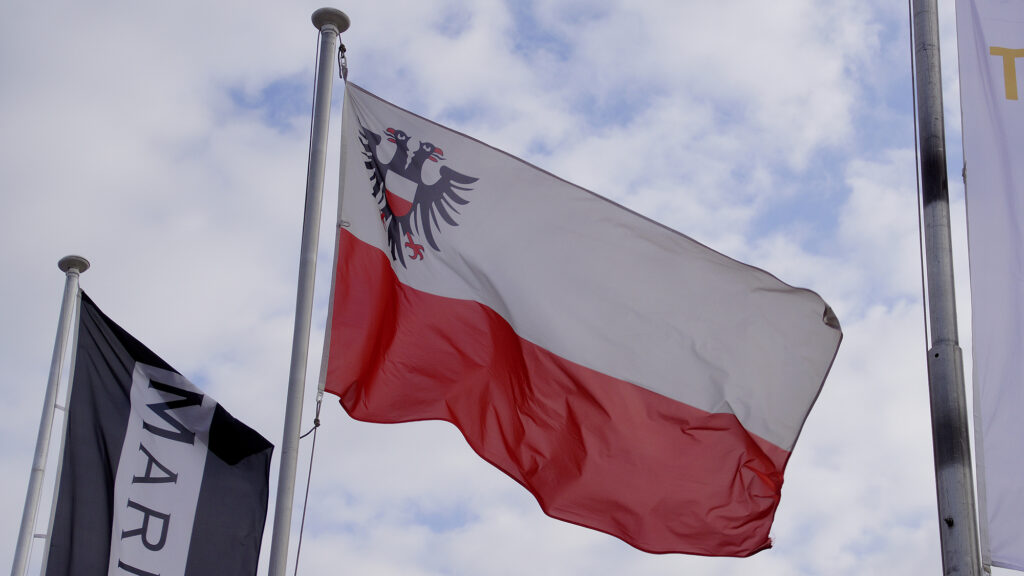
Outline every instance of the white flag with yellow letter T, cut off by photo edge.
{"type": "Polygon", "coordinates": [[[1024,570],[1024,0],[957,0],[956,31],[983,554],[1024,570]]]}

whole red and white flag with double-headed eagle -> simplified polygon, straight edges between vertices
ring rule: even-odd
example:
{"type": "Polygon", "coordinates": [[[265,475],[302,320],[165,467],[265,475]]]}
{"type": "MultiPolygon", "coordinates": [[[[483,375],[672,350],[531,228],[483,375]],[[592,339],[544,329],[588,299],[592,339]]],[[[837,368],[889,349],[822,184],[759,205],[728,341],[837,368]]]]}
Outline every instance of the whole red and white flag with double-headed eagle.
{"type": "Polygon", "coordinates": [[[842,332],[815,293],[348,84],[326,389],[549,516],[749,556],[842,332]]]}

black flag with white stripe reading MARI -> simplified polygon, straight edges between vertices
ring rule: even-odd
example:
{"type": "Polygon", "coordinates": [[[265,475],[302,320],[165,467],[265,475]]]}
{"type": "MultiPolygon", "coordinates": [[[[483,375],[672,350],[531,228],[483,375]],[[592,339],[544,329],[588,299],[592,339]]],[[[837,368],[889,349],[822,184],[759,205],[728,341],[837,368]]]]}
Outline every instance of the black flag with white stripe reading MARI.
{"type": "Polygon", "coordinates": [[[47,576],[256,574],[273,446],[82,293],[47,576]]]}

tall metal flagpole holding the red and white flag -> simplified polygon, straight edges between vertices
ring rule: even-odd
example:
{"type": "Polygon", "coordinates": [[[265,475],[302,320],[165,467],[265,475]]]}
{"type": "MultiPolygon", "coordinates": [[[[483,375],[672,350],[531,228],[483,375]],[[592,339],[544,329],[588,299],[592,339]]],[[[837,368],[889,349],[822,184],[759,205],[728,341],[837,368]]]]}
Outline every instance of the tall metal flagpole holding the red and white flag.
{"type": "Polygon", "coordinates": [[[306,172],[306,207],[302,218],[302,247],[299,252],[299,288],[295,303],[295,332],[292,365],[288,377],[285,433],[281,442],[278,500],[270,542],[269,576],[285,576],[288,570],[288,539],[292,524],[292,500],[299,456],[299,427],[309,353],[309,324],[313,308],[316,276],[316,246],[319,241],[321,199],[324,195],[324,167],[327,160],[327,132],[331,120],[331,91],[334,85],[335,52],[338,36],[348,29],[349,19],[341,10],[321,8],[313,12],[319,30],[319,66],[313,95],[313,117],[309,138],[309,166],[306,172]]]}

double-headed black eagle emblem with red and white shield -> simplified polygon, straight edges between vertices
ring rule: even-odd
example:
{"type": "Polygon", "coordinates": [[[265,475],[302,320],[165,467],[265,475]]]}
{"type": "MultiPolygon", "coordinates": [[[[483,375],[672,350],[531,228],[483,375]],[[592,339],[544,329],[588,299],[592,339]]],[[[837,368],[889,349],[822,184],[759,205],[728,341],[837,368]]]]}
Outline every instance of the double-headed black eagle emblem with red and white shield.
{"type": "Polygon", "coordinates": [[[411,260],[424,258],[424,247],[417,243],[421,234],[431,248],[440,251],[434,241],[435,232],[440,230],[440,220],[449,225],[459,225],[452,213],[459,213],[456,205],[469,204],[459,193],[472,190],[466,184],[475,182],[477,178],[440,166],[437,180],[427,183],[423,179],[424,163],[444,160],[444,152],[431,142],[420,140],[420,147],[410,154],[409,134],[388,128],[384,135],[359,126],[365,165],[370,171],[381,223],[387,231],[391,259],[404,266],[407,254],[403,248],[409,249],[411,260]],[[379,153],[384,135],[395,147],[394,154],[386,163],[379,153]]]}

